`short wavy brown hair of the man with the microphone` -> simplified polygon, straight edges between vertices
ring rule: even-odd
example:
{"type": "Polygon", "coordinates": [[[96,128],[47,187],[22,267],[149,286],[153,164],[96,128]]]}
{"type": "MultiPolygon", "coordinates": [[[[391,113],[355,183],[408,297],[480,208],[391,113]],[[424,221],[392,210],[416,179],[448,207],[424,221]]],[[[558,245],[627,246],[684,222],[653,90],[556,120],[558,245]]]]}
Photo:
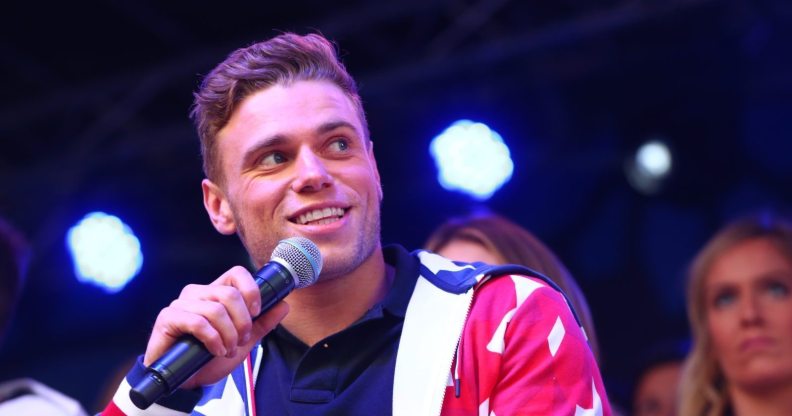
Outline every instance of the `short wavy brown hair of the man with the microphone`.
{"type": "Polygon", "coordinates": [[[204,174],[220,180],[216,137],[240,103],[257,91],[295,81],[329,81],[338,86],[360,117],[363,135],[368,123],[357,84],[338,58],[334,45],[321,35],[284,33],[237,49],[215,67],[194,94],[190,113],[201,139],[204,174]]]}

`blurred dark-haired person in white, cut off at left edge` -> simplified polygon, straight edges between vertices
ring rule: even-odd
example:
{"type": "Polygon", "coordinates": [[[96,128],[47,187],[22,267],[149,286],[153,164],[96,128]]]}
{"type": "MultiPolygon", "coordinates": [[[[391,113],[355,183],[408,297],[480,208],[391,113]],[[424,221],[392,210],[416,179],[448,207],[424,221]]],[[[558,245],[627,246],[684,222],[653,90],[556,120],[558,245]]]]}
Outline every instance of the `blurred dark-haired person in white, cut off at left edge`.
{"type": "MultiPolygon", "coordinates": [[[[10,327],[25,282],[28,244],[0,218],[0,344],[10,327]]],[[[29,378],[0,383],[0,416],[83,416],[80,404],[29,378]]]]}

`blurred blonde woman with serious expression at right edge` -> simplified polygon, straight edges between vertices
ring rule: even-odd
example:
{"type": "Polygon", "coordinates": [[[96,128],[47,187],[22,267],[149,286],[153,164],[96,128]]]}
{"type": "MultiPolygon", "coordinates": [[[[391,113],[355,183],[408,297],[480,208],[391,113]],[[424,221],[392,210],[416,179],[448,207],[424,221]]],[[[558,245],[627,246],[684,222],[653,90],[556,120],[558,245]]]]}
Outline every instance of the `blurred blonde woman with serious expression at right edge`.
{"type": "Polygon", "coordinates": [[[682,416],[792,415],[792,224],[740,219],[694,259],[682,416]]]}

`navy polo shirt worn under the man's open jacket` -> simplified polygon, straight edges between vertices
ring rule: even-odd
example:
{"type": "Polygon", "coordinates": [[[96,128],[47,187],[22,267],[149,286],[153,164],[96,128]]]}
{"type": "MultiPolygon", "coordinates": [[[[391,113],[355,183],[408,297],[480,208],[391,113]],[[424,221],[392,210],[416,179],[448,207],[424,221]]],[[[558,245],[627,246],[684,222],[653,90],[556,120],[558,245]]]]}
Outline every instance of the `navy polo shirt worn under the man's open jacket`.
{"type": "Polygon", "coordinates": [[[264,337],[257,414],[391,414],[396,352],[418,279],[418,260],[396,245],[385,247],[383,254],[396,269],[393,285],[354,324],[313,347],[282,326],[264,337]]]}

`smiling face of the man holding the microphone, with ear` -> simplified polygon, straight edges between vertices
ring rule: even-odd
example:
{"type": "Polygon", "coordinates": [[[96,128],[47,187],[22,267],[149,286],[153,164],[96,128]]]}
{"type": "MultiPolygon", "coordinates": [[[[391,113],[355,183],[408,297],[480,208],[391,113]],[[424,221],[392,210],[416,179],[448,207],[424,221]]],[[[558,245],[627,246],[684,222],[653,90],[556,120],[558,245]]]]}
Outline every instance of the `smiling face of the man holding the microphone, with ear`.
{"type": "Polygon", "coordinates": [[[217,135],[223,181],[204,180],[215,228],[236,232],[257,267],[278,241],[319,246],[322,278],[342,276],[379,248],[382,190],[352,101],[324,81],[247,97],[217,135]]]}

